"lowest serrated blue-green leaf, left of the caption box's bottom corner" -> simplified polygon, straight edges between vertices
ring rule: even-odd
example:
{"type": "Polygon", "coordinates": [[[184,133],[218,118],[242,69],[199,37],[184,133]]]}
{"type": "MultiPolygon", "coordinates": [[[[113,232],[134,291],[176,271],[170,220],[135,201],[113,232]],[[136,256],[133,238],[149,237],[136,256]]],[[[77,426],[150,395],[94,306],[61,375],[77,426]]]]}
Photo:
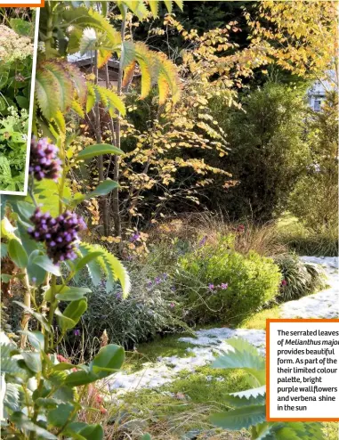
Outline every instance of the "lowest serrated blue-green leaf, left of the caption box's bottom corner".
{"type": "Polygon", "coordinates": [[[265,405],[248,405],[244,408],[237,408],[236,410],[219,412],[213,414],[211,417],[211,422],[215,426],[232,431],[249,428],[265,420],[265,405]]]}

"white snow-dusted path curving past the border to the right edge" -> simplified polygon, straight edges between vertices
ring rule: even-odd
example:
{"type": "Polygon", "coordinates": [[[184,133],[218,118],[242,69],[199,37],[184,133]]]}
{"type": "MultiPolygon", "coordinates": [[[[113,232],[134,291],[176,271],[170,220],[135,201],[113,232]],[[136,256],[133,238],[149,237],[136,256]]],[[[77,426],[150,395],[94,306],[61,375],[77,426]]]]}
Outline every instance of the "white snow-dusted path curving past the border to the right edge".
{"type": "MultiPolygon", "coordinates": [[[[281,306],[281,317],[286,318],[336,318],[339,316],[339,274],[337,257],[302,257],[304,261],[322,265],[327,273],[329,289],[322,290],[297,301],[289,301],[281,306]]],[[[188,357],[159,357],[157,363],[145,363],[141,371],[127,374],[123,371],[110,377],[107,385],[115,394],[123,395],[143,387],[157,388],[172,382],[180,371],[195,371],[214,360],[214,355],[223,351],[227,339],[239,337],[257,346],[265,353],[264,330],[232,330],[226,327],[219,329],[198,330],[195,338],[179,338],[179,341],[190,343],[188,357]]]]}

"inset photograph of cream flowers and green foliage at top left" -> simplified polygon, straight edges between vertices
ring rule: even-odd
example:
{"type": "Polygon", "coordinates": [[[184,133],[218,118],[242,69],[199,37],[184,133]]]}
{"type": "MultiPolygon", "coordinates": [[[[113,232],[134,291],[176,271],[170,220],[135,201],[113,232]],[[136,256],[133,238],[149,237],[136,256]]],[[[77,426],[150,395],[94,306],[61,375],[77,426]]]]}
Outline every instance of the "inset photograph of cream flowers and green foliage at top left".
{"type": "Polygon", "coordinates": [[[0,8],[0,193],[27,191],[38,12],[0,8]],[[35,37],[36,35],[36,37],[35,37]],[[36,44],[35,44],[36,41],[36,44]],[[32,105],[31,105],[32,104],[32,105]]]}

